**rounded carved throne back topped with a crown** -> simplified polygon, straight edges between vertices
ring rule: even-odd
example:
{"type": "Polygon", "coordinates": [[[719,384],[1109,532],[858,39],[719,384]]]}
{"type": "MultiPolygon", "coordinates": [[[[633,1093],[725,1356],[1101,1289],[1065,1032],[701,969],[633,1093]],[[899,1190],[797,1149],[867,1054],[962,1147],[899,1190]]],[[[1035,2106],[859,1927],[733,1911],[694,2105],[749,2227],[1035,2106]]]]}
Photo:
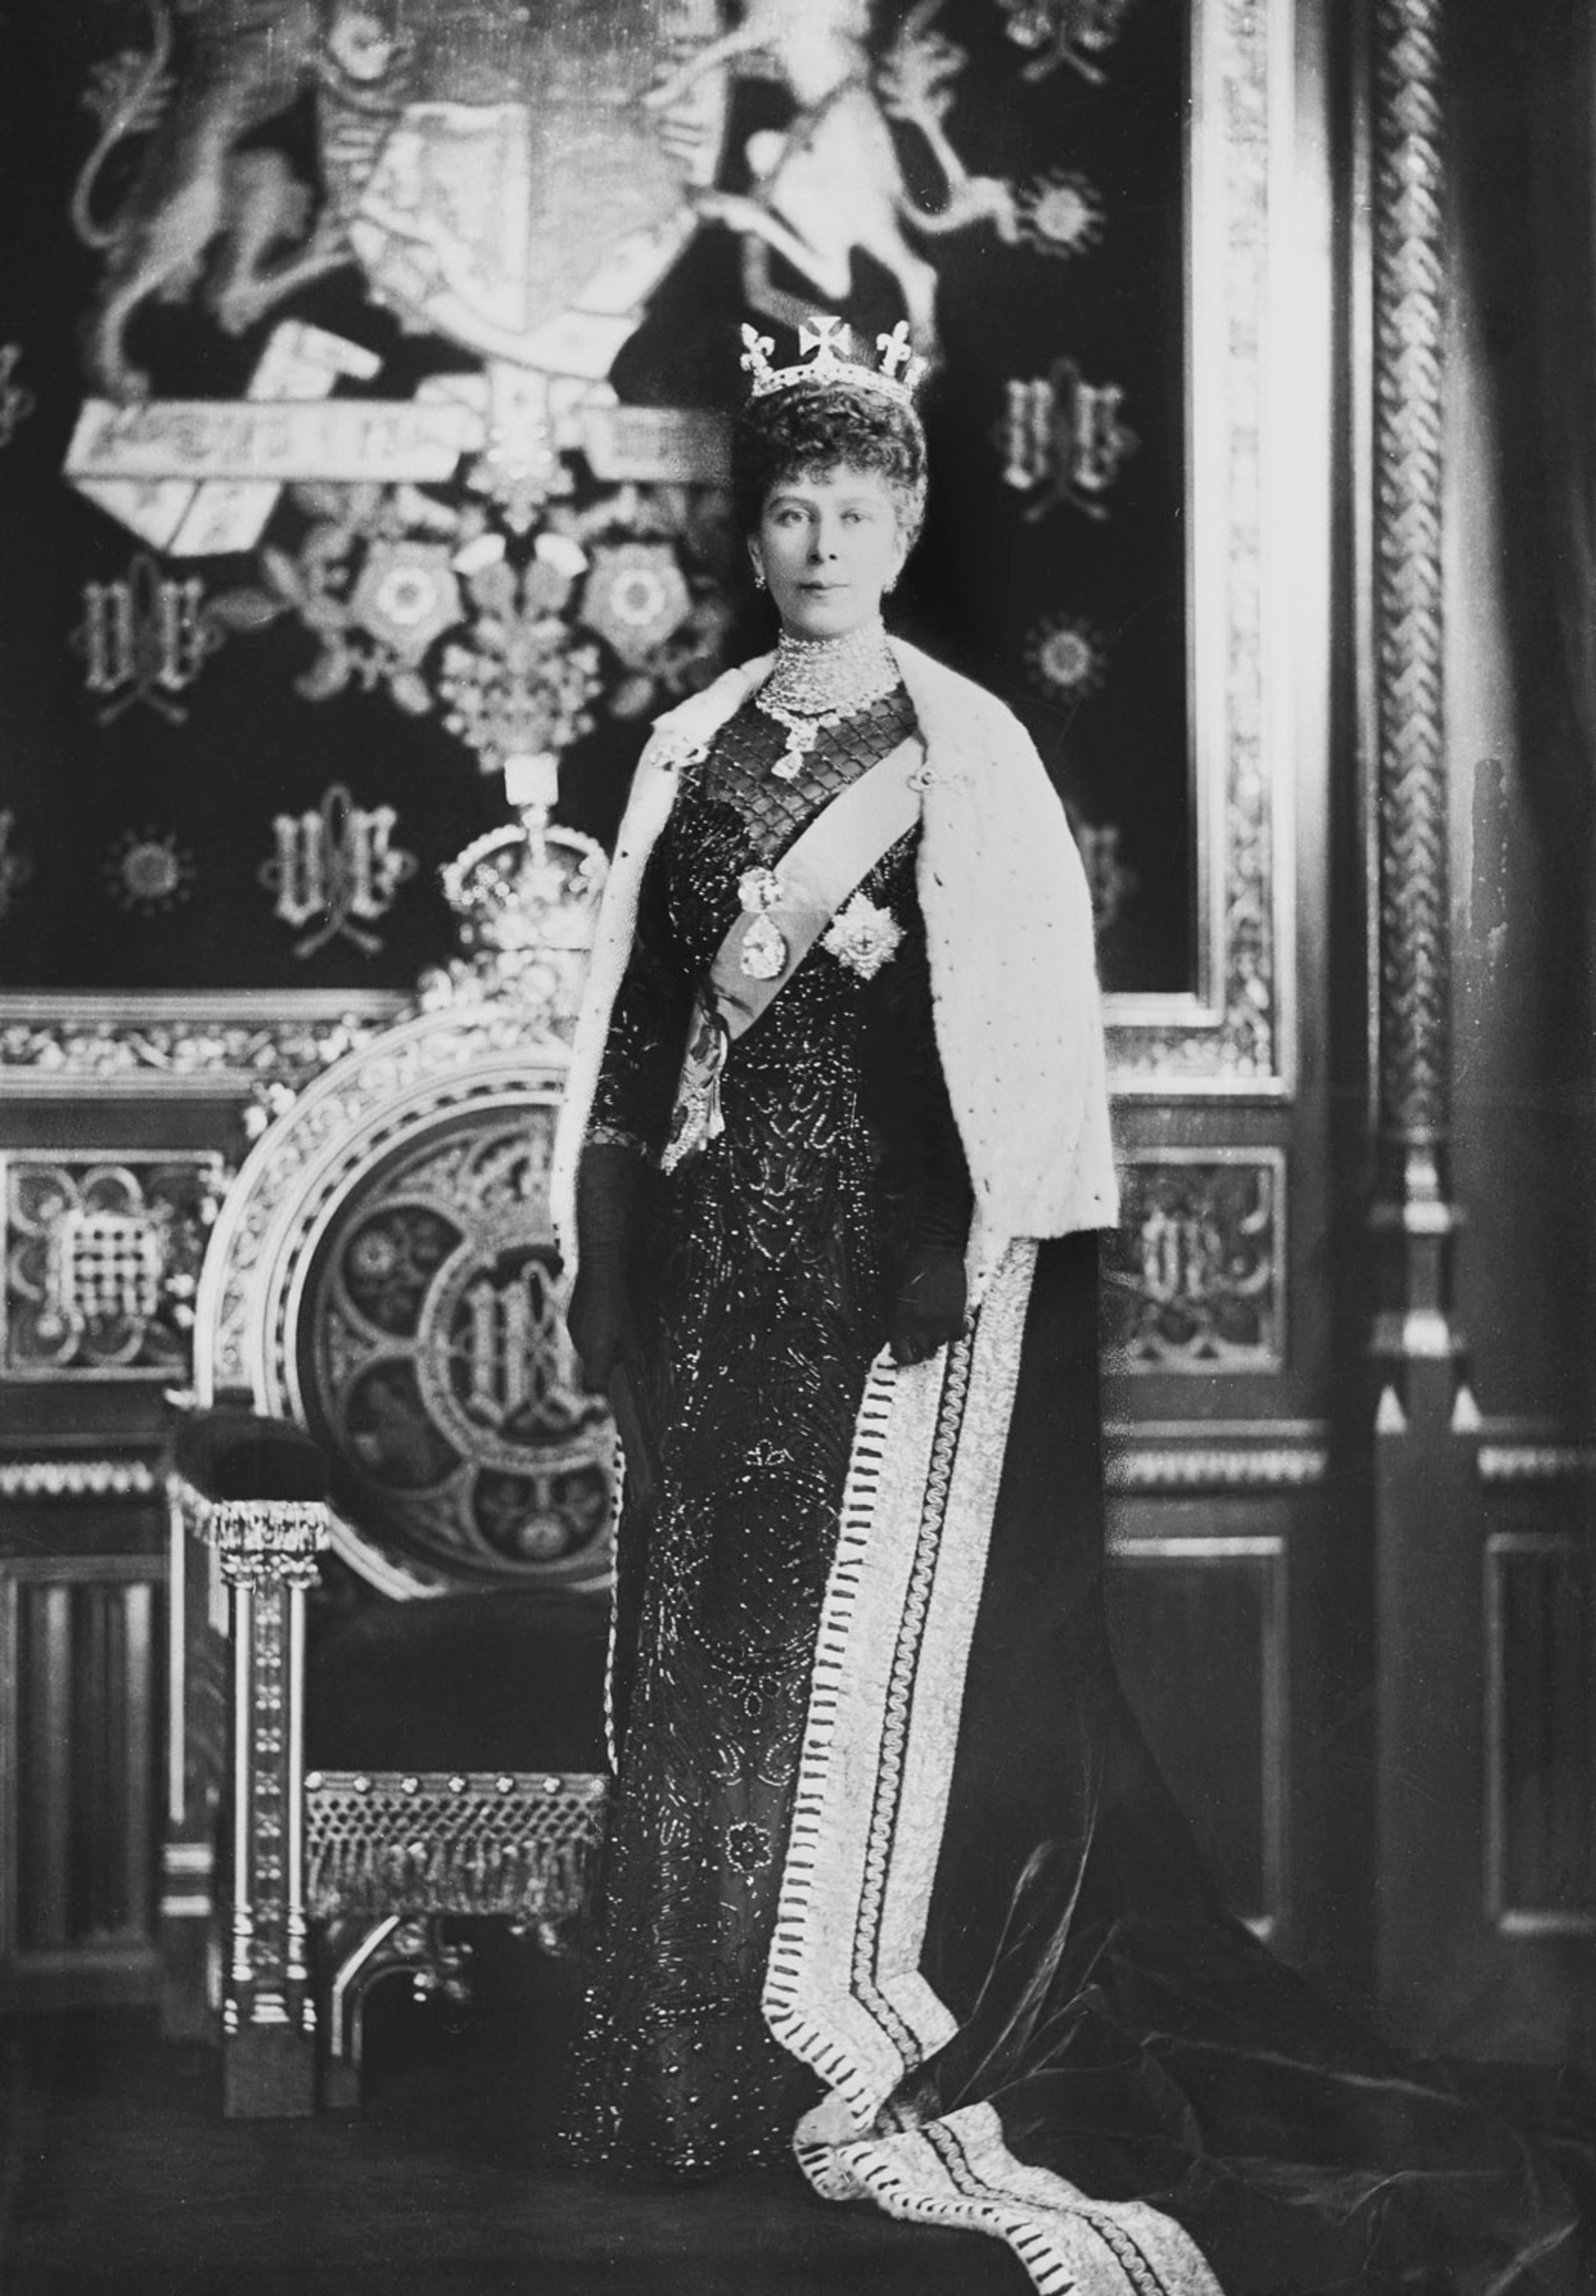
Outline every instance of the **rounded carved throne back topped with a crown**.
{"type": "Polygon", "coordinates": [[[464,854],[466,957],[280,1107],[216,1221],[200,1403],[317,1437],[333,1545],[390,1596],[609,1570],[613,1440],[558,1313],[547,1185],[599,882],[567,831],[464,854]]]}

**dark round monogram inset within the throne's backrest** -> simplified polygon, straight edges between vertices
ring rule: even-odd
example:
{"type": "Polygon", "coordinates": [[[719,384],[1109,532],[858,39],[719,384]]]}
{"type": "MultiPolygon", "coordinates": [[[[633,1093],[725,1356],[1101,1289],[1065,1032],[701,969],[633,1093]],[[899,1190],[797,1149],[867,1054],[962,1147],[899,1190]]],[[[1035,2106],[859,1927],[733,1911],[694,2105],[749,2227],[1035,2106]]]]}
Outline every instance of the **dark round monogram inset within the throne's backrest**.
{"type": "Polygon", "coordinates": [[[567,1564],[609,1534],[609,1417],[558,1313],[553,1111],[473,1116],[379,1169],[310,1274],[301,1394],[340,1497],[420,1561],[567,1564]]]}

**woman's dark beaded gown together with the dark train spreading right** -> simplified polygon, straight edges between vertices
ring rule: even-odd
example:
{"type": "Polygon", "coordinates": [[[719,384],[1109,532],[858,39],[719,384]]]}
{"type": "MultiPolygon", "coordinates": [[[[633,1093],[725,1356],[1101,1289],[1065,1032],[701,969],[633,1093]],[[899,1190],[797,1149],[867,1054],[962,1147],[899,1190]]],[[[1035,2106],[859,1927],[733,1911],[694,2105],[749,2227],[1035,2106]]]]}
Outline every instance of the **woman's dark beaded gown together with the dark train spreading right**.
{"type": "MultiPolygon", "coordinates": [[[[783,785],[783,732],[749,705],[687,769],[590,1137],[661,1146],[737,879],[909,723],[896,693],[783,785]]],[[[902,925],[898,953],[866,983],[813,948],[733,1047],[723,1134],[650,1176],[654,1476],[620,1529],[620,1763],[563,2149],[652,2177],[790,2163],[820,2094],[760,2016],[815,1628],[902,1251],[969,1217],[914,836],[863,891],[902,925]]],[[[1596,2287],[1591,2082],[1548,2080],[1500,2117],[1488,2069],[1389,2050],[1206,1876],[1107,1644],[1088,1235],[1038,1254],[921,1968],[960,2030],[891,2110],[990,2101],[1022,2161],[1180,2220],[1226,2296],[1596,2287]]]]}

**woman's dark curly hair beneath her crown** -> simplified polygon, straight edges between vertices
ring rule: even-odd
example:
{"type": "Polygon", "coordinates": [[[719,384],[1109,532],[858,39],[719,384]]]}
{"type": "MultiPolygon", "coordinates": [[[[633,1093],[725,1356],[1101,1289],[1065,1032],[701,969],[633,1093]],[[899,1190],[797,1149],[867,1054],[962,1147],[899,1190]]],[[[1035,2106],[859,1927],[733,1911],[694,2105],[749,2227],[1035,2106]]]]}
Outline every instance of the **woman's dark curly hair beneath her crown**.
{"type": "Polygon", "coordinates": [[[852,383],[795,383],[744,404],[733,425],[733,501],[742,533],[758,533],[772,487],[838,468],[884,478],[905,542],[914,544],[925,517],[921,418],[852,383]]]}

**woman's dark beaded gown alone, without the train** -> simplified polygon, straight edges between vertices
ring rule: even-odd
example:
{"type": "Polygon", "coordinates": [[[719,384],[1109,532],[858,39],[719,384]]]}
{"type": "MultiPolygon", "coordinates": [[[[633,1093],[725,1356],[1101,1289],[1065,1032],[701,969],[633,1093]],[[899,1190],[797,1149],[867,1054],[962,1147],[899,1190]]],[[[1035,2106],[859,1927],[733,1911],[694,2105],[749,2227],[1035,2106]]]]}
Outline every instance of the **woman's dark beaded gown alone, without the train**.
{"type": "MultiPolygon", "coordinates": [[[[744,707],[689,767],[643,884],[590,1137],[657,1150],[737,882],[914,716],[829,728],[797,781],[744,707]]],[[[657,1490],[620,1529],[613,1816],[567,2151],[698,2174],[790,2161],[818,2087],[760,2016],[838,1502],[900,1254],[969,1180],[930,1024],[919,831],[861,891],[902,928],[863,980],[815,946],[726,1065],[726,1130],[652,1176],[636,1304],[657,1490]]]]}

